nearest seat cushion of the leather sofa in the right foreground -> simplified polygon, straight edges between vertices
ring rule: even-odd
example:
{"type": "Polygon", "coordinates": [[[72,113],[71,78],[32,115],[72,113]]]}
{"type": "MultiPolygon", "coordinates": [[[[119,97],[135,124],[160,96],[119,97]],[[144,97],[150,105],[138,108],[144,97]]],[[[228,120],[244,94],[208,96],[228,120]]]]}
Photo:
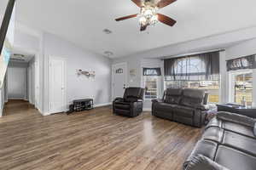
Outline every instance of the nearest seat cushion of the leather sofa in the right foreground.
{"type": "Polygon", "coordinates": [[[255,156],[224,145],[218,146],[215,161],[231,170],[255,170],[256,167],[255,156]]]}

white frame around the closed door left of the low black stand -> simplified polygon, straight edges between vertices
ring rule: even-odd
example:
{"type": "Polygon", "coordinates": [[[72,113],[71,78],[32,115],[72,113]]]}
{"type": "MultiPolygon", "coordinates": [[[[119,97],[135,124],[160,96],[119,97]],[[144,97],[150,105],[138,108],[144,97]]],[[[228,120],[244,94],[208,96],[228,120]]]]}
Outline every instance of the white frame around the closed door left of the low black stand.
{"type": "Polygon", "coordinates": [[[51,59],[61,59],[64,62],[64,72],[63,72],[63,77],[64,77],[64,100],[63,100],[63,108],[62,111],[67,111],[67,59],[63,57],[57,57],[57,56],[49,56],[48,60],[48,115],[55,114],[55,112],[50,111],[50,61],[51,59]]]}

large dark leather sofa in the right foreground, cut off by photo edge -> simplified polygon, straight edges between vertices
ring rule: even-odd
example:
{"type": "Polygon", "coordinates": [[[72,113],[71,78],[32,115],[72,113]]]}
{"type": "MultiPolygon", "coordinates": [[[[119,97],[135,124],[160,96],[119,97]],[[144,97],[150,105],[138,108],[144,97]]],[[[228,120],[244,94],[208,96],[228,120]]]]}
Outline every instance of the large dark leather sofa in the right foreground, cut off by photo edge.
{"type": "Polygon", "coordinates": [[[185,170],[255,170],[256,119],[219,112],[184,163],[185,170]]]}

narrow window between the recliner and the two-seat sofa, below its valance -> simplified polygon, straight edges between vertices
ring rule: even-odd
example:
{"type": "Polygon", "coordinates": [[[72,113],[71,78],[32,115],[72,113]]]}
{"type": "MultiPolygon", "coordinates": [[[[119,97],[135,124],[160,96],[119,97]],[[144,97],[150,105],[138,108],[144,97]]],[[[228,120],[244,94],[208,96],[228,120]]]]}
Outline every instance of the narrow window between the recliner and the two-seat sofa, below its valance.
{"type": "Polygon", "coordinates": [[[159,78],[154,76],[144,77],[145,84],[145,99],[157,99],[158,98],[158,85],[159,78]]]}

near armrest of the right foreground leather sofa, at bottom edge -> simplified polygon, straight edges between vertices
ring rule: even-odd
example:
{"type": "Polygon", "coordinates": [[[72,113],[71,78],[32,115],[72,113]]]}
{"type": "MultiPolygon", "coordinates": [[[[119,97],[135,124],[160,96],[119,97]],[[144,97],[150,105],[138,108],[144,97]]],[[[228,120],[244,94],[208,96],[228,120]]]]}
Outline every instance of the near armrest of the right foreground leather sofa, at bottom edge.
{"type": "Polygon", "coordinates": [[[226,167],[219,165],[206,156],[197,155],[190,162],[185,170],[229,170],[226,167]]]}

